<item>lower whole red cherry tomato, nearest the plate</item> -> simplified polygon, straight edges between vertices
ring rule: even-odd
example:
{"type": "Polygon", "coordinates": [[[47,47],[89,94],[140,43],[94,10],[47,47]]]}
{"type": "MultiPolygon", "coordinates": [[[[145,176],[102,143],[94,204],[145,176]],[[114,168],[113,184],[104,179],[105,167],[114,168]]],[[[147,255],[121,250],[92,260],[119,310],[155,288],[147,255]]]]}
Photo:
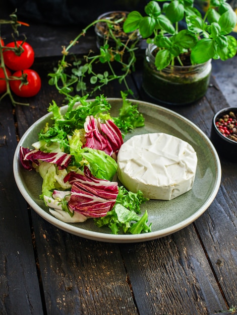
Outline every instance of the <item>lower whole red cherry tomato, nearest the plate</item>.
{"type": "Polygon", "coordinates": [[[21,77],[23,73],[27,74],[28,84],[22,84],[21,80],[10,80],[11,90],[20,97],[35,96],[41,88],[39,74],[35,70],[25,69],[14,72],[13,76],[21,77]]]}

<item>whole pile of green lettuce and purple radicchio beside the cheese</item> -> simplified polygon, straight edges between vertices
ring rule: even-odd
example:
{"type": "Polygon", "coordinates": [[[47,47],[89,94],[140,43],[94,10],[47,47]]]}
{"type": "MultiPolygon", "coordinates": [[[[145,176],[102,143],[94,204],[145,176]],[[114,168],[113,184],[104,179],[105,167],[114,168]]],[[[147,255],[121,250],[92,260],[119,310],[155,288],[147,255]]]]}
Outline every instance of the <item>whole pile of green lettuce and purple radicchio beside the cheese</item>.
{"type": "Polygon", "coordinates": [[[65,222],[93,217],[97,226],[108,226],[112,233],[149,232],[147,212],[139,215],[148,199],[141,191],[135,194],[112,182],[123,144],[121,129],[127,133],[144,126],[137,106],[121,95],[118,117],[110,116],[111,106],[103,95],[91,101],[88,96],[75,97],[64,114],[53,101],[48,108],[53,123],[45,124],[33,150],[20,148],[20,157],[27,170],[35,169],[43,178],[40,197],[55,217],[65,222]],[[92,145],[87,143],[90,137],[92,145]]]}

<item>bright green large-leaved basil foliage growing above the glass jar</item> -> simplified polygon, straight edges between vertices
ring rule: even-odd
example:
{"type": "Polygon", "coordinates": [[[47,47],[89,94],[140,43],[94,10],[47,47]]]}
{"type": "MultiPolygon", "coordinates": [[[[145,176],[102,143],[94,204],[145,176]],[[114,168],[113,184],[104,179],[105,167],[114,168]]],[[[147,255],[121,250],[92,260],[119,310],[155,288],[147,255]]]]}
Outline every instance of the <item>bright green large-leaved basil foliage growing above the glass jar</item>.
{"type": "Polygon", "coordinates": [[[194,0],[168,0],[162,8],[158,2],[164,0],[149,2],[145,17],[131,12],[124,23],[125,32],[139,29],[148,43],[159,47],[155,57],[158,70],[173,65],[175,58],[183,65],[180,56],[185,52],[191,53],[192,64],[211,58],[226,60],[236,54],[236,39],[228,35],[236,25],[236,14],[225,0],[210,0],[204,16],[194,7],[194,0]]]}

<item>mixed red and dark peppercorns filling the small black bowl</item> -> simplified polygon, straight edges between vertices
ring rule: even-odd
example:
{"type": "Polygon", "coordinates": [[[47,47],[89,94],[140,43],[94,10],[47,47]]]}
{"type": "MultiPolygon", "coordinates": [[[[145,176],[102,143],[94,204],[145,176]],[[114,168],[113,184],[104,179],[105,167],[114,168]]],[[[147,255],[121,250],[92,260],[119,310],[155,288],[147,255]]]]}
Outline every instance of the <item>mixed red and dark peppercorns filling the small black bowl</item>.
{"type": "Polygon", "coordinates": [[[218,118],[215,124],[223,136],[237,142],[237,114],[229,112],[218,118]]]}

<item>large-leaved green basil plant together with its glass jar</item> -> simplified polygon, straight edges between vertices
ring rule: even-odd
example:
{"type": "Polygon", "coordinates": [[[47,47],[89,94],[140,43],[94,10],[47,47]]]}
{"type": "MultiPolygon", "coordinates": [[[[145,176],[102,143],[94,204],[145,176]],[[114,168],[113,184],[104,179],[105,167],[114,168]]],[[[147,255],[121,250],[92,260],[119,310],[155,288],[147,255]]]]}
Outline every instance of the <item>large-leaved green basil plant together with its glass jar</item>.
{"type": "Polygon", "coordinates": [[[139,29],[147,39],[143,88],[166,104],[190,104],[206,92],[211,59],[226,60],[236,54],[236,39],[228,35],[236,14],[224,0],[210,0],[204,16],[194,0],[169,0],[162,8],[156,0],[145,7],[146,16],[133,11],[124,31],[139,29]]]}

